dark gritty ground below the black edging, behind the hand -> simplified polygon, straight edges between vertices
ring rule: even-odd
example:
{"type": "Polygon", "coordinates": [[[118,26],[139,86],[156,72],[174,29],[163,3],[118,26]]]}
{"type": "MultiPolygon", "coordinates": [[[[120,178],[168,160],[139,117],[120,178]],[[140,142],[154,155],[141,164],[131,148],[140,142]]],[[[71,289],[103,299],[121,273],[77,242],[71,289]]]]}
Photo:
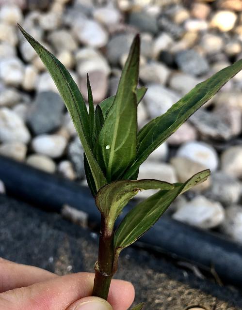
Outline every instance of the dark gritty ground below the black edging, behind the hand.
{"type": "MultiPolygon", "coordinates": [[[[59,275],[93,271],[97,234],[59,214],[36,209],[0,196],[0,256],[17,263],[48,269],[59,275]]],[[[136,303],[146,309],[185,310],[200,305],[207,310],[242,309],[242,292],[219,286],[172,259],[130,247],[121,253],[115,278],[130,280],[136,303]]]]}

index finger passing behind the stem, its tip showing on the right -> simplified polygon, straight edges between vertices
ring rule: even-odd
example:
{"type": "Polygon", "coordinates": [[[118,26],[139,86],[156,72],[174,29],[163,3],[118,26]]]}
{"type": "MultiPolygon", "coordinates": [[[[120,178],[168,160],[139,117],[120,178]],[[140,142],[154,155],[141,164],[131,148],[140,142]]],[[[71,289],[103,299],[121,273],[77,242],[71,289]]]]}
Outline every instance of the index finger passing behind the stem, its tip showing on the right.
{"type": "MultiPolygon", "coordinates": [[[[14,289],[0,294],[0,309],[66,310],[76,300],[90,296],[93,283],[94,274],[78,273],[14,289]]],[[[127,282],[113,280],[110,303],[113,303],[114,310],[126,310],[132,302],[131,295],[128,294],[127,298],[123,295],[127,292],[126,285],[127,282]],[[125,301],[122,308],[119,299],[125,301]]]]}

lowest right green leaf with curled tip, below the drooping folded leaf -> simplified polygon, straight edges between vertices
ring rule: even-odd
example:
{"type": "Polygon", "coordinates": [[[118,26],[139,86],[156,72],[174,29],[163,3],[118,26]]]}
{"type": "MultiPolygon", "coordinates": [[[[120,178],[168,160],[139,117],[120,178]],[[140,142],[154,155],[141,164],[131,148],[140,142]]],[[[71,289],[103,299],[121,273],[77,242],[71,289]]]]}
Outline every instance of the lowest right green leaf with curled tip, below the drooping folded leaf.
{"type": "Polygon", "coordinates": [[[160,190],[137,204],[117,228],[114,235],[114,247],[121,250],[135,242],[155,224],[179,194],[205,181],[209,175],[209,170],[198,172],[187,182],[175,183],[173,189],[160,190]]]}

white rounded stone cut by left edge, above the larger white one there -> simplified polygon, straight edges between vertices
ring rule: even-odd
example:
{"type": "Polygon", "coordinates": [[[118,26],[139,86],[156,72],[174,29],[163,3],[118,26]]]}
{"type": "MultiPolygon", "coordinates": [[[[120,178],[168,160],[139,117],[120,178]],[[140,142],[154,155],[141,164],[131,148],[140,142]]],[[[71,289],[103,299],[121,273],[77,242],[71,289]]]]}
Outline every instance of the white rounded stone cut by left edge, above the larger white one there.
{"type": "Polygon", "coordinates": [[[19,86],[24,78],[24,65],[15,57],[0,61],[0,78],[7,84],[19,86]]]}

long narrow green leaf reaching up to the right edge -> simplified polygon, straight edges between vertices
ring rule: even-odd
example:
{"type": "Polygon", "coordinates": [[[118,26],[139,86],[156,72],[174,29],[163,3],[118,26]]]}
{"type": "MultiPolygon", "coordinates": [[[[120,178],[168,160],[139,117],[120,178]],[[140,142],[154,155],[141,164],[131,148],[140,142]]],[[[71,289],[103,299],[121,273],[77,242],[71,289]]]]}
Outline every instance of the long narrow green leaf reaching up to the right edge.
{"type": "Polygon", "coordinates": [[[170,137],[197,109],[213,97],[220,88],[242,69],[242,60],[215,73],[206,81],[197,84],[166,113],[146,124],[138,133],[137,156],[125,173],[129,176],[145,161],[156,148],[170,137]]]}

